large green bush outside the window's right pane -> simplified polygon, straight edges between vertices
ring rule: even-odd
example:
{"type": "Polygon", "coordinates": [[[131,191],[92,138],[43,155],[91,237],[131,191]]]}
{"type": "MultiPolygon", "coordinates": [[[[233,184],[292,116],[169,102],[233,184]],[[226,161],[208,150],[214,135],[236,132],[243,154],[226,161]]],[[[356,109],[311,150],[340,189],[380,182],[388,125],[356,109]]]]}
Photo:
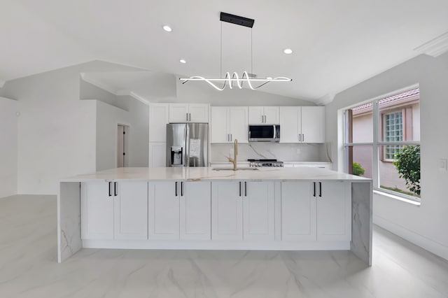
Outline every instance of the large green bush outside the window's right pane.
{"type": "Polygon", "coordinates": [[[420,195],[420,146],[405,146],[395,154],[395,167],[407,188],[420,195]]]}

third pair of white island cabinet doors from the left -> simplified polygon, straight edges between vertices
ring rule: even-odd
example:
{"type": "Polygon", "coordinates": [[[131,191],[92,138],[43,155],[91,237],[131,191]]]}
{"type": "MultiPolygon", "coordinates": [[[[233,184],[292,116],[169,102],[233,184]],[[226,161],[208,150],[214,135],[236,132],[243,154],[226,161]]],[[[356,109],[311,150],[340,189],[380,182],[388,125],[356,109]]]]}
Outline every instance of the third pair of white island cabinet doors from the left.
{"type": "Polygon", "coordinates": [[[274,183],[211,183],[211,239],[274,241],[274,183]]]}

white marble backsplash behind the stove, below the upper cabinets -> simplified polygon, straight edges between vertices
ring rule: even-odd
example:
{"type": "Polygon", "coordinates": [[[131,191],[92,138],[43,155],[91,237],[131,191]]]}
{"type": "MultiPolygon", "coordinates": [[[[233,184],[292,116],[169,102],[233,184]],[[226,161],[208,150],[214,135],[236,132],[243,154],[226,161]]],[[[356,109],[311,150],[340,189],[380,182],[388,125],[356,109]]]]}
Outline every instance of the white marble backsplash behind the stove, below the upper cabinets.
{"type": "MultiPolygon", "coordinates": [[[[239,162],[253,159],[278,159],[281,162],[328,162],[325,144],[239,143],[239,162]]],[[[228,162],[233,157],[233,143],[211,144],[210,162],[228,162]]]]}

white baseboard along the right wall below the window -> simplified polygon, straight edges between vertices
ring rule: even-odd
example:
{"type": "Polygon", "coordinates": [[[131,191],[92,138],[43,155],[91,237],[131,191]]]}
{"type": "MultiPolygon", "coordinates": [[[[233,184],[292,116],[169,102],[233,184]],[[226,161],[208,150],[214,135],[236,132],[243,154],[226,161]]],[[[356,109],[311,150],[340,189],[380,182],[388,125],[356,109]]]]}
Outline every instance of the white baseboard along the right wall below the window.
{"type": "Polygon", "coordinates": [[[434,255],[438,255],[439,257],[448,260],[448,247],[443,246],[440,243],[437,243],[431,239],[426,238],[416,232],[412,232],[405,227],[395,224],[395,222],[391,222],[386,218],[381,218],[381,216],[373,215],[373,223],[383,229],[388,230],[389,232],[400,236],[402,239],[405,239],[411,243],[414,243],[416,246],[420,246],[428,250],[430,253],[434,255]]]}

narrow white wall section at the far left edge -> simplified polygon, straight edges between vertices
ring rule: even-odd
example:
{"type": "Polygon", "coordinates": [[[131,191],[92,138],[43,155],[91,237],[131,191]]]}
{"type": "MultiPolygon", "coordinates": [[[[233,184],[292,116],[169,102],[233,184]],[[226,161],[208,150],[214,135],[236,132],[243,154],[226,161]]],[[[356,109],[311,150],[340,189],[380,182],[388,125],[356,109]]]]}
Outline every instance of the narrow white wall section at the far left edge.
{"type": "Polygon", "coordinates": [[[17,194],[18,101],[0,97],[0,198],[17,194]]]}

